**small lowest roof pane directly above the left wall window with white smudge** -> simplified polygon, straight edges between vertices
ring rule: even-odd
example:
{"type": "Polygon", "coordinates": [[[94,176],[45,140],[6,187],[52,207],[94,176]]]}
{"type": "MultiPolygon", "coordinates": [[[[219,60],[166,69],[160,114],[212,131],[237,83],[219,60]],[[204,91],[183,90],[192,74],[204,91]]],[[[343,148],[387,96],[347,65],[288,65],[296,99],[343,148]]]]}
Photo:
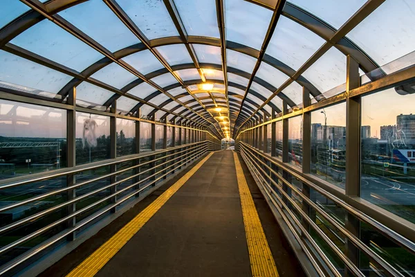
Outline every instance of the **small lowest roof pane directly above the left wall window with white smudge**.
{"type": "Polygon", "coordinates": [[[114,93],[97,87],[89,82],[82,82],[76,87],[76,104],[89,107],[91,105],[103,105],[114,93]]]}

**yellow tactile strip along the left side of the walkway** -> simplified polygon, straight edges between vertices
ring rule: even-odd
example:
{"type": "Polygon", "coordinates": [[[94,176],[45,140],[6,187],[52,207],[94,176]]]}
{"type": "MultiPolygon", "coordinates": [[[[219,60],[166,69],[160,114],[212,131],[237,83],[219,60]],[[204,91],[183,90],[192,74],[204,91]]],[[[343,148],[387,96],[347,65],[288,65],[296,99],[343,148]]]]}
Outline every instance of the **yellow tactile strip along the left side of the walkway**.
{"type": "Polygon", "coordinates": [[[146,224],[150,218],[157,213],[158,210],[181,188],[187,180],[194,175],[194,173],[201,168],[205,161],[212,156],[214,152],[211,152],[202,161],[200,161],[194,168],[187,172],[181,179],[168,188],[162,195],[160,195],[154,202],[149,204],[147,208],[141,211],[136,217],[133,218],[127,225],[122,227],[112,238],[101,245],[100,248],[95,250],[86,258],[80,265],[75,267],[68,276],[94,276],[102,267],[114,256],[116,253],[135,235],[144,224],[146,224]]]}

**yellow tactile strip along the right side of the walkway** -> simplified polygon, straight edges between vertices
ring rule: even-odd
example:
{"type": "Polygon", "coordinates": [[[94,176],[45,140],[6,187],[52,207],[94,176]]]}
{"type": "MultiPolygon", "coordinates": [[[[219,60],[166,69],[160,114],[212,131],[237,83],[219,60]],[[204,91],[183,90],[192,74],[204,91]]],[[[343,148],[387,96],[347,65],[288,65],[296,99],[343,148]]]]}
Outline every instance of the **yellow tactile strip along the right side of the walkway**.
{"type": "Polygon", "coordinates": [[[264,229],[255,208],[254,199],[250,194],[248,184],[237,153],[234,154],[235,168],[237,169],[237,180],[239,195],[241,195],[241,206],[243,215],[243,224],[245,225],[246,242],[248,242],[248,251],[252,276],[279,276],[273,254],[266,240],[264,229]]]}

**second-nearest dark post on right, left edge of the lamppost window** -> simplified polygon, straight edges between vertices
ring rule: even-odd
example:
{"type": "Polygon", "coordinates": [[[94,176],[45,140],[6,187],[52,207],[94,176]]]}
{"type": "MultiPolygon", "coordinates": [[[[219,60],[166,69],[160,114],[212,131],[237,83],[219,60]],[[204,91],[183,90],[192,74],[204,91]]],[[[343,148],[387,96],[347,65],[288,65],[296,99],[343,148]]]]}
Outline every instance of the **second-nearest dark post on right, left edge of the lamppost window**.
{"type": "MultiPolygon", "coordinates": [[[[303,109],[310,105],[310,91],[303,87],[303,109]]],[[[310,173],[310,164],[311,164],[311,112],[303,112],[302,116],[302,143],[303,143],[303,152],[302,152],[302,172],[310,173]]],[[[305,197],[310,199],[310,187],[306,184],[302,184],[302,193],[305,197]]],[[[305,201],[302,202],[302,211],[310,216],[310,205],[305,201]]],[[[310,230],[310,224],[303,218],[302,225],[307,231],[310,230]]]]}

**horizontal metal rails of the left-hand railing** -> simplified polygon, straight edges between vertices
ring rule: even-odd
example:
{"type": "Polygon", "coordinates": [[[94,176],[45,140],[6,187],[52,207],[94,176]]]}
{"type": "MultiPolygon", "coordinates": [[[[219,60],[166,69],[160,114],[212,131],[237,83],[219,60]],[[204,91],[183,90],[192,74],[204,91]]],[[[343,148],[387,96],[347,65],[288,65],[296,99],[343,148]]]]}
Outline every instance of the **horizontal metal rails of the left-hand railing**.
{"type": "MultiPolygon", "coordinates": [[[[45,211],[41,211],[39,213],[36,213],[35,215],[30,215],[29,217],[25,217],[22,220],[19,220],[17,222],[12,222],[11,224],[8,224],[7,226],[1,227],[0,228],[0,233],[4,233],[6,231],[12,231],[12,229],[15,229],[19,226],[22,226],[23,224],[26,224],[28,222],[34,222],[34,221],[38,220],[40,217],[44,217],[44,216],[52,213],[53,211],[59,211],[59,209],[65,208],[66,206],[74,204],[76,202],[80,202],[82,199],[87,199],[88,197],[91,197],[91,195],[96,195],[97,193],[100,193],[104,190],[109,190],[110,188],[114,188],[114,187],[116,188],[119,184],[122,184],[125,181],[129,181],[130,179],[133,179],[133,178],[138,178],[142,175],[147,174],[148,172],[151,172],[151,175],[149,175],[149,176],[147,176],[143,179],[139,179],[138,181],[134,181],[133,184],[129,184],[128,186],[126,186],[126,187],[124,187],[120,190],[114,190],[114,192],[111,193],[111,195],[107,195],[105,197],[102,197],[102,199],[99,199],[98,201],[93,202],[92,204],[89,204],[88,206],[85,206],[84,208],[81,208],[78,211],[74,211],[73,213],[70,213],[70,214],[66,215],[65,217],[59,218],[59,220],[57,220],[55,222],[52,222],[52,223],[48,224],[47,226],[44,226],[41,229],[38,229],[38,230],[34,231],[33,233],[30,233],[30,234],[24,236],[23,238],[19,238],[18,240],[15,240],[15,242],[12,242],[12,243],[4,246],[4,247],[1,247],[0,255],[3,255],[3,254],[7,253],[8,251],[10,251],[12,249],[15,249],[15,247],[19,247],[19,245],[23,244],[24,242],[28,242],[28,240],[36,238],[37,236],[42,235],[42,233],[45,233],[46,231],[48,231],[50,229],[53,229],[53,227],[59,226],[60,224],[65,224],[66,222],[68,222],[68,220],[72,220],[77,215],[81,215],[82,213],[90,211],[92,208],[94,208],[96,206],[99,206],[100,204],[102,204],[104,202],[107,202],[108,200],[116,199],[116,197],[118,195],[121,195],[122,193],[128,192],[129,190],[131,190],[131,188],[133,188],[133,190],[131,192],[129,192],[127,195],[122,196],[120,199],[116,199],[115,202],[105,206],[104,208],[100,209],[99,211],[96,211],[95,213],[93,213],[93,215],[89,215],[89,217],[86,217],[85,219],[81,220],[80,222],[76,222],[75,226],[72,226],[71,228],[67,228],[64,231],[59,232],[57,235],[54,235],[53,238],[50,238],[50,239],[46,240],[45,242],[42,242],[41,244],[37,245],[36,247],[33,247],[33,249],[30,249],[29,251],[26,251],[21,256],[18,256],[17,258],[15,258],[15,259],[11,260],[10,262],[6,263],[6,265],[3,265],[3,267],[0,267],[0,275],[10,271],[11,269],[17,267],[18,265],[21,265],[22,262],[25,262],[29,258],[32,258],[37,253],[39,253],[40,251],[43,251],[47,247],[52,246],[56,242],[59,242],[59,240],[62,240],[62,238],[65,238],[67,235],[70,235],[71,233],[77,231],[78,229],[82,228],[82,226],[85,226],[86,224],[89,224],[89,222],[92,222],[93,220],[97,219],[101,215],[104,215],[104,213],[107,213],[108,211],[112,211],[113,208],[115,208],[116,206],[119,206],[123,202],[127,201],[127,199],[130,199],[131,197],[134,197],[134,196],[138,195],[138,193],[144,191],[146,188],[149,188],[150,186],[155,186],[158,181],[165,179],[165,177],[167,177],[171,173],[174,173],[174,172],[176,172],[176,170],[183,168],[183,166],[185,166],[190,161],[192,161],[192,160],[194,160],[198,157],[201,157],[206,152],[209,152],[209,151],[212,151],[212,150],[217,150],[217,149],[219,149],[218,144],[212,143],[211,141],[203,141],[201,143],[190,143],[190,144],[187,144],[187,145],[180,145],[180,146],[177,146],[175,148],[167,148],[163,151],[149,152],[149,153],[146,153],[145,155],[138,154],[138,155],[135,155],[134,157],[128,157],[126,159],[118,159],[116,161],[110,161],[110,162],[106,162],[106,163],[103,163],[103,164],[98,164],[96,166],[86,166],[84,168],[76,168],[76,169],[66,170],[66,172],[57,173],[57,175],[59,175],[59,176],[64,176],[64,175],[73,174],[75,172],[82,172],[82,171],[86,171],[86,170],[102,168],[103,166],[109,166],[109,165],[114,165],[114,164],[118,164],[118,163],[123,163],[125,161],[134,161],[134,160],[138,160],[138,159],[151,158],[151,157],[155,158],[157,155],[160,155],[160,154],[163,154],[163,153],[165,154],[166,152],[172,152],[172,153],[167,154],[165,156],[158,157],[156,159],[151,159],[149,161],[145,161],[144,163],[140,163],[138,165],[130,166],[129,168],[124,168],[124,169],[116,171],[116,172],[111,172],[109,174],[105,174],[105,175],[97,177],[97,178],[93,178],[93,179],[90,179],[90,180],[87,180],[87,181],[80,182],[80,183],[75,184],[74,186],[71,186],[71,187],[66,187],[66,188],[54,190],[53,192],[46,193],[44,195],[39,195],[38,197],[32,197],[30,199],[27,199],[26,202],[25,202],[26,204],[30,203],[30,202],[33,202],[33,201],[36,201],[36,200],[39,200],[39,199],[43,199],[44,197],[48,197],[50,195],[55,195],[57,193],[65,192],[66,190],[79,188],[80,186],[84,186],[85,184],[91,184],[94,181],[100,181],[101,179],[108,178],[108,177],[111,177],[113,175],[120,175],[124,172],[127,172],[128,170],[134,170],[136,168],[140,168],[140,167],[143,167],[143,166],[149,166],[151,164],[156,163],[156,161],[163,161],[162,163],[156,164],[152,168],[148,168],[148,169],[142,170],[142,171],[140,171],[136,174],[129,175],[129,176],[123,178],[123,179],[114,181],[111,184],[108,184],[108,185],[102,186],[98,189],[89,191],[88,193],[85,193],[84,195],[80,195],[80,196],[75,197],[73,199],[70,199],[70,200],[68,200],[64,203],[57,204],[56,206],[48,208],[45,211]],[[145,186],[142,186],[140,188],[140,185],[142,185],[142,184],[145,184],[145,186]]],[[[44,181],[44,180],[50,179],[50,175],[44,176],[44,177],[39,177],[39,178],[42,178],[42,181],[44,181]]],[[[32,182],[39,181],[39,178],[37,178],[36,180],[24,180],[22,182],[24,182],[24,184],[30,184],[32,182]]],[[[16,184],[17,184],[17,182],[14,183],[14,186],[19,186],[19,185],[16,185],[16,184]]],[[[21,205],[17,205],[17,206],[21,206],[21,205]]],[[[2,209],[4,211],[6,211],[10,208],[15,208],[15,207],[16,206],[12,207],[12,206],[9,205],[9,206],[6,206],[6,207],[2,207],[2,209]]]]}

